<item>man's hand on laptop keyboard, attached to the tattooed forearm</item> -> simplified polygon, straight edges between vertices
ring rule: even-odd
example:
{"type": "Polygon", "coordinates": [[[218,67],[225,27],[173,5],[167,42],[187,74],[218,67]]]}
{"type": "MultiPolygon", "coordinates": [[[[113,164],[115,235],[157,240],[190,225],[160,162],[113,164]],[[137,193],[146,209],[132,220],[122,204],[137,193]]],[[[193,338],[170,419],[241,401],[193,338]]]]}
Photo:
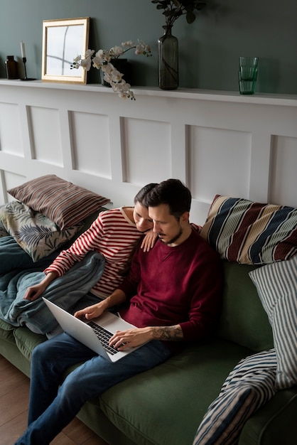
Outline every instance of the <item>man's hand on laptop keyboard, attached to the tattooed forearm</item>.
{"type": "Polygon", "coordinates": [[[150,341],[151,328],[132,328],[127,331],[117,331],[109,340],[109,345],[117,350],[136,348],[150,341]]]}

